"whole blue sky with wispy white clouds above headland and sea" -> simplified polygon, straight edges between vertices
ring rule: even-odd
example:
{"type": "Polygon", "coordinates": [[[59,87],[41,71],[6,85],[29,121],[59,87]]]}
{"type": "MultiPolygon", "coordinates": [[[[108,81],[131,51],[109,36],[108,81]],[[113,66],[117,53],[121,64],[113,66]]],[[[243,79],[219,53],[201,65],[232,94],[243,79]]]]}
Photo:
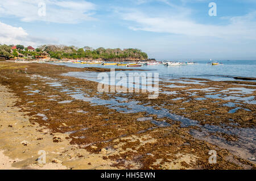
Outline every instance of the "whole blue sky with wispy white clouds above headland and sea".
{"type": "Polygon", "coordinates": [[[0,43],[138,48],[159,60],[256,60],[256,1],[0,0],[0,43]],[[45,16],[38,14],[42,2],[45,16]],[[209,16],[210,2],[217,16],[209,16]]]}

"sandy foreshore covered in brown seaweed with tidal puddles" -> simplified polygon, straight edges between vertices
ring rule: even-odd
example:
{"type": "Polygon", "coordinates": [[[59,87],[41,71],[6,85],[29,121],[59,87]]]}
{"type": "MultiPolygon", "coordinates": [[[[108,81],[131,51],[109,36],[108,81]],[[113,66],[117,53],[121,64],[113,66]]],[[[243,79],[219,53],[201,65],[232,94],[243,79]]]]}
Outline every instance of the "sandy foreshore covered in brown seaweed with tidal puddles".
{"type": "MultiPolygon", "coordinates": [[[[245,141],[241,141],[240,135],[222,131],[229,129],[224,124],[232,130],[255,131],[255,104],[242,104],[242,109],[229,113],[231,108],[222,104],[238,102],[218,96],[218,102],[198,99],[205,97],[207,91],[195,90],[213,87],[225,93],[226,89],[236,87],[255,89],[255,82],[190,79],[186,81],[191,84],[184,87],[184,83],[163,81],[160,82],[162,91],[177,94],[161,93],[158,99],[149,100],[144,93],[99,94],[96,82],[63,75],[70,71],[85,69],[0,63],[0,97],[3,99],[0,149],[4,151],[5,160],[13,162],[8,166],[5,163],[6,169],[255,168],[255,162],[248,159],[255,153],[254,145],[248,153],[243,151],[243,146],[250,150],[253,141],[242,145],[245,141]],[[194,81],[203,83],[203,87],[194,81]],[[159,116],[164,110],[168,113],[159,116]],[[176,117],[170,116],[170,111],[176,117]],[[206,125],[217,127],[217,131],[209,132],[206,125]],[[237,143],[238,147],[234,147],[237,143]],[[47,152],[46,165],[36,161],[39,150],[47,152]],[[217,151],[216,164],[209,164],[209,150],[217,151]]],[[[90,68],[89,71],[109,70],[90,68]]],[[[245,99],[255,96],[254,92],[236,94],[245,99]]],[[[255,132],[253,134],[254,139],[255,132]]]]}

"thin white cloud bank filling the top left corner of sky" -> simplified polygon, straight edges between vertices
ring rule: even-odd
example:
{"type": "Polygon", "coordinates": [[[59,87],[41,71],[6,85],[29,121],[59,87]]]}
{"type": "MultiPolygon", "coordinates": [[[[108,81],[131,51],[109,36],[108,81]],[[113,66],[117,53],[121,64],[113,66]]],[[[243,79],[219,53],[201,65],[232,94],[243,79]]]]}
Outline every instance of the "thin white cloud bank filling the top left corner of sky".
{"type": "Polygon", "coordinates": [[[96,5],[86,1],[0,0],[0,17],[19,18],[23,22],[80,23],[92,18],[96,5]],[[46,16],[40,16],[39,3],[46,3],[46,16]]]}

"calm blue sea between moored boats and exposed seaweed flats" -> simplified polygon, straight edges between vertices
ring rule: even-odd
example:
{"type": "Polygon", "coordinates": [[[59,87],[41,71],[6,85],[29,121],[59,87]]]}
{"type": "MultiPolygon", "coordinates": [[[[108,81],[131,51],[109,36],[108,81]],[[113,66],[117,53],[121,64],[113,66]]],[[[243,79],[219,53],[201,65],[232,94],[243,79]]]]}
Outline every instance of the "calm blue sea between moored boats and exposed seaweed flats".
{"type": "MultiPolygon", "coordinates": [[[[185,60],[184,60],[185,61],[185,60]]],[[[158,72],[160,78],[205,78],[212,81],[234,81],[233,77],[254,77],[256,78],[256,61],[220,61],[224,65],[212,66],[206,61],[195,61],[196,65],[185,66],[142,66],[142,68],[126,69],[145,69],[147,72],[158,72]]],[[[119,66],[102,66],[89,64],[61,63],[56,65],[66,65],[76,68],[97,67],[97,68],[119,68],[119,66]]],[[[125,68],[125,67],[123,67],[125,68]]],[[[97,73],[96,73],[97,74],[97,73]]],[[[94,78],[93,74],[92,79],[94,78]]],[[[88,76],[89,77],[89,76],[88,76]]]]}

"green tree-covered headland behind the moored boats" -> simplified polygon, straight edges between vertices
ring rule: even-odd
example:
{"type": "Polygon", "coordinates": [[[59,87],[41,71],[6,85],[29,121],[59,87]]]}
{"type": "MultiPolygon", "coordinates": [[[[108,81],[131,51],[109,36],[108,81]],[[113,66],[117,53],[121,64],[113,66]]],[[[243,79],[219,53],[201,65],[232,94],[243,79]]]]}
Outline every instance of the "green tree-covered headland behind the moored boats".
{"type": "Polygon", "coordinates": [[[97,48],[93,49],[91,47],[76,48],[75,46],[65,46],[65,45],[42,45],[36,48],[35,52],[28,52],[27,48],[23,45],[16,45],[16,49],[11,52],[11,47],[13,45],[0,45],[0,54],[6,57],[17,57],[18,52],[22,53],[26,57],[39,56],[42,52],[47,52],[50,54],[51,58],[62,59],[102,59],[102,60],[145,60],[147,59],[147,54],[139,49],[105,49],[97,48]]]}

